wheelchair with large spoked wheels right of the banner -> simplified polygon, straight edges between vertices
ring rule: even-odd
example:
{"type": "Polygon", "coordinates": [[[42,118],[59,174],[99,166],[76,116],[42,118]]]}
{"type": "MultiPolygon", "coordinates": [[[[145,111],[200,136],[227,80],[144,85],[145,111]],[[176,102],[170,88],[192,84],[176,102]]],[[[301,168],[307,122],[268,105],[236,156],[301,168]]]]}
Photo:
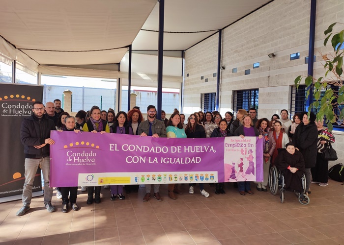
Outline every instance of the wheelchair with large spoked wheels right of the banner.
{"type": "MultiPolygon", "coordinates": [[[[295,195],[297,196],[299,202],[302,205],[308,205],[310,203],[310,198],[305,194],[305,190],[306,190],[305,174],[302,175],[301,181],[302,181],[303,193],[295,192],[295,195]]],[[[285,192],[287,190],[285,189],[284,176],[283,176],[282,172],[277,169],[276,166],[272,166],[270,168],[269,184],[270,184],[270,192],[272,195],[276,195],[278,190],[280,191],[281,203],[283,203],[284,198],[285,198],[285,192]]]]}

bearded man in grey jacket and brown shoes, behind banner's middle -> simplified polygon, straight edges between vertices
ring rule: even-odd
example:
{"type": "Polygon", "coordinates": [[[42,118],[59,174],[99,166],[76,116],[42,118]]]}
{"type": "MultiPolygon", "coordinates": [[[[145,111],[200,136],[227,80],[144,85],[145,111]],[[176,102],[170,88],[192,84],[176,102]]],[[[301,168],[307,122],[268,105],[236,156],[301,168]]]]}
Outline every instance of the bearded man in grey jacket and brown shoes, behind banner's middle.
{"type": "MultiPolygon", "coordinates": [[[[138,135],[141,136],[152,136],[153,138],[166,137],[166,127],[163,121],[157,120],[156,108],[154,105],[148,105],[147,107],[147,120],[140,123],[138,129],[138,135]]],[[[143,197],[143,201],[146,202],[150,198],[150,189],[152,185],[145,185],[146,195],[143,197]]],[[[160,185],[153,185],[154,194],[153,196],[158,200],[162,201],[163,198],[159,194],[160,185]]]]}

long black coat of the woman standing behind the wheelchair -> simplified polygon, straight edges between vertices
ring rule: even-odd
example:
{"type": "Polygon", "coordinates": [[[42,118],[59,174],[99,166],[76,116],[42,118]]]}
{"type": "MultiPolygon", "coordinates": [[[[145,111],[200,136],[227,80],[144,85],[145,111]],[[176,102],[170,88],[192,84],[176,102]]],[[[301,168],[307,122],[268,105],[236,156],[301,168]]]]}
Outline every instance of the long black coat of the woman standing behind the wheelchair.
{"type": "Polygon", "coordinates": [[[300,150],[305,159],[306,169],[315,167],[317,138],[318,130],[315,123],[307,125],[300,123],[292,137],[292,143],[300,150]]]}

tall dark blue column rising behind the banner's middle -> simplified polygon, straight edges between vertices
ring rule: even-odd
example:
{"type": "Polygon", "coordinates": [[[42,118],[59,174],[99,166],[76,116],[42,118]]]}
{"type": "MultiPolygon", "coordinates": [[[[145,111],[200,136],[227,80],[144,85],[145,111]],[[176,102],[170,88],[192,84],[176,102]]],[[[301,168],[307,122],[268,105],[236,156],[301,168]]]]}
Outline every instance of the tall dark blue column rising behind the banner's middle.
{"type": "Polygon", "coordinates": [[[158,98],[156,118],[161,120],[163,98],[163,58],[164,58],[164,11],[165,0],[159,1],[159,42],[158,42],[158,98]]]}

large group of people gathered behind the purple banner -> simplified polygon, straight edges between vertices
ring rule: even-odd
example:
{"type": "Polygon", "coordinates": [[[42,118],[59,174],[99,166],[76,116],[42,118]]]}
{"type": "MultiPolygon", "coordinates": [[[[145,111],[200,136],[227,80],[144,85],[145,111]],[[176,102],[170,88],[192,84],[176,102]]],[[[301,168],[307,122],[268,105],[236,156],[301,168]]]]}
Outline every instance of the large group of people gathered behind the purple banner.
{"type": "MultiPolygon", "coordinates": [[[[195,112],[187,121],[184,114],[174,110],[169,120],[162,111],[162,120],[156,118],[154,105],[147,107],[147,119],[139,107],[134,107],[128,113],[119,111],[115,114],[113,109],[102,111],[98,106],[93,106],[89,111],[79,111],[75,117],[70,116],[61,108],[61,101],[47,102],[44,106],[41,102],[34,102],[33,114],[26,118],[21,126],[21,141],[25,146],[25,184],[23,189],[23,207],[17,212],[17,216],[24,215],[30,208],[32,197],[32,184],[38,166],[42,169],[44,178],[44,204],[49,212],[54,212],[55,207],[51,204],[53,189],[49,187],[50,158],[49,145],[55,142],[50,138],[51,130],[58,131],[80,131],[92,133],[116,133],[140,135],[142,137],[168,137],[168,138],[210,138],[210,137],[258,137],[263,138],[263,181],[256,182],[258,191],[267,191],[268,172],[270,164],[274,165],[278,160],[280,148],[294,147],[304,159],[304,168],[293,166],[294,162],[284,165],[291,173],[305,172],[307,186],[306,192],[310,193],[310,182],[326,186],[328,182],[328,162],[321,158],[321,152],[329,143],[334,143],[334,136],[328,129],[323,127],[323,121],[315,122],[314,113],[296,113],[293,121],[289,119],[288,111],[282,110],[280,115],[274,114],[269,121],[267,118],[258,119],[256,108],[250,108],[249,112],[239,109],[236,119],[231,112],[226,112],[225,117],[217,111],[195,112]],[[290,143],[291,142],[291,143],[290,143]]],[[[287,150],[287,152],[295,152],[287,150]]],[[[297,152],[297,155],[299,155],[297,152]]],[[[294,153],[289,153],[293,155],[294,153]]],[[[299,166],[299,165],[298,165],[299,166]]],[[[282,168],[284,168],[282,167],[282,168]]],[[[241,175],[254,173],[254,166],[250,165],[245,173],[240,168],[241,175]]],[[[292,183],[289,183],[290,187],[292,183]]],[[[237,187],[240,195],[254,194],[251,190],[250,181],[239,181],[237,187]]],[[[139,185],[126,185],[126,193],[137,192],[139,185]]],[[[143,201],[149,201],[153,196],[158,201],[163,198],[159,191],[160,185],[145,185],[143,201]],[[153,188],[153,195],[151,189],[153,188]]],[[[204,184],[199,184],[201,195],[208,197],[209,193],[204,190],[204,184]]],[[[77,199],[78,187],[61,187],[57,190],[57,198],[62,199],[62,212],[66,213],[69,204],[74,211],[79,209],[77,199]]],[[[86,187],[82,187],[86,191],[86,187]]],[[[111,200],[125,199],[122,185],[111,185],[111,200]]],[[[189,184],[189,193],[194,194],[195,185],[189,184]]],[[[87,204],[100,203],[101,187],[87,187],[87,204]]],[[[182,194],[177,184],[168,185],[168,196],[176,199],[175,194],[182,194]]],[[[215,184],[215,194],[225,194],[224,183],[215,184]]]]}

